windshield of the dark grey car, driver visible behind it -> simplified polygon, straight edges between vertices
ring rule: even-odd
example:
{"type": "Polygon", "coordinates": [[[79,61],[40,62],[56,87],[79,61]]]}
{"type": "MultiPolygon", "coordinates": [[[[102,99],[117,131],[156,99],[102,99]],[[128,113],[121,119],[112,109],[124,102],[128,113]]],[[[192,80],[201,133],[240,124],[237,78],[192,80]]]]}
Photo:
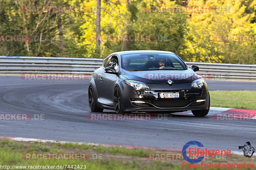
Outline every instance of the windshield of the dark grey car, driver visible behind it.
{"type": "Polygon", "coordinates": [[[184,62],[175,54],[145,53],[122,55],[122,67],[128,71],[186,70],[184,62]]]}

